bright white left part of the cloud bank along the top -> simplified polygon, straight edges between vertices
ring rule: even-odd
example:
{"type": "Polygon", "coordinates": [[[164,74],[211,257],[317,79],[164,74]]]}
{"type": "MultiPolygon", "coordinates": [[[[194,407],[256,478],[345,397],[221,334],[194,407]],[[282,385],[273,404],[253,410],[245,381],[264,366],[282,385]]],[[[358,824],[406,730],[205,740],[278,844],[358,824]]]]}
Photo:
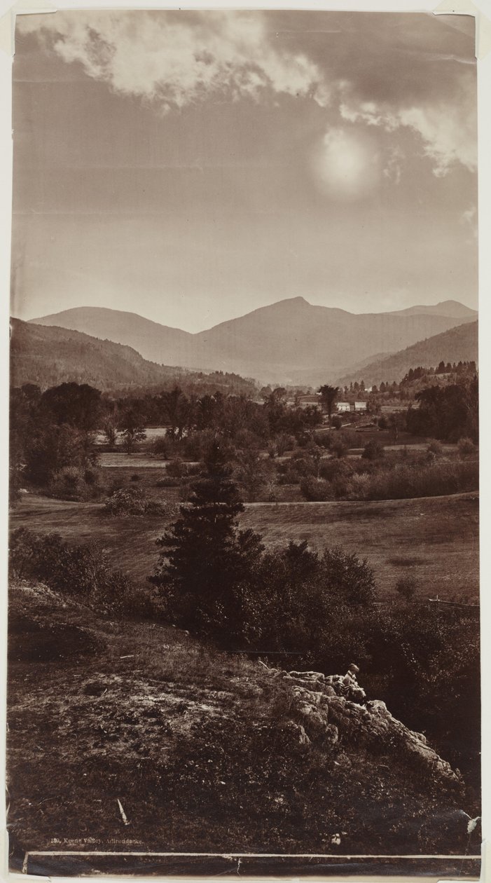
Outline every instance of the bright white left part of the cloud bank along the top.
{"type": "Polygon", "coordinates": [[[89,77],[162,109],[220,94],[257,100],[268,90],[329,103],[318,65],[305,53],[274,45],[257,14],[78,11],[18,20],[21,33],[37,33],[45,47],[82,64],[89,77]]]}

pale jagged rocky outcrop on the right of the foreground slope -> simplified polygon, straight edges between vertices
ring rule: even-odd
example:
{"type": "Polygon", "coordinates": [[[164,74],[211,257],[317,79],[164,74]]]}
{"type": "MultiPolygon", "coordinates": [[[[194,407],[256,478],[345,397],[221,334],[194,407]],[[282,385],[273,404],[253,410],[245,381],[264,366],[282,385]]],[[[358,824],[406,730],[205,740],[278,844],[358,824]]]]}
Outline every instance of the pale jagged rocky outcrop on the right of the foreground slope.
{"type": "Polygon", "coordinates": [[[326,747],[365,749],[394,758],[435,785],[462,785],[461,775],[427,744],[426,736],[397,721],[384,702],[375,700],[362,706],[346,698],[341,675],[269,671],[291,694],[286,722],[292,741],[304,747],[308,740],[326,747]]]}

